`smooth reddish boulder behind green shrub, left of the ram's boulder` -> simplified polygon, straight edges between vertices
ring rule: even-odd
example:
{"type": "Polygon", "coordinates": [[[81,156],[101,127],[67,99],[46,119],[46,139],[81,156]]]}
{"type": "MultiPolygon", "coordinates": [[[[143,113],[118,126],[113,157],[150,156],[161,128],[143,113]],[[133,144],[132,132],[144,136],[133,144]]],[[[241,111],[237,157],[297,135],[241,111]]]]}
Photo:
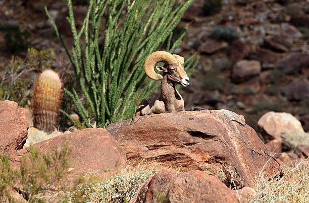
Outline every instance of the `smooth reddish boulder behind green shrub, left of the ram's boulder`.
{"type": "MultiPolygon", "coordinates": [[[[48,154],[55,145],[60,148],[66,141],[68,147],[72,148],[72,153],[68,156],[72,161],[69,169],[71,173],[68,175],[71,180],[79,174],[95,174],[105,178],[127,166],[123,149],[103,128],[82,129],[36,143],[34,146],[40,154],[48,154]]],[[[12,166],[19,168],[21,156],[27,156],[28,150],[14,151],[10,155],[12,166]]]]}

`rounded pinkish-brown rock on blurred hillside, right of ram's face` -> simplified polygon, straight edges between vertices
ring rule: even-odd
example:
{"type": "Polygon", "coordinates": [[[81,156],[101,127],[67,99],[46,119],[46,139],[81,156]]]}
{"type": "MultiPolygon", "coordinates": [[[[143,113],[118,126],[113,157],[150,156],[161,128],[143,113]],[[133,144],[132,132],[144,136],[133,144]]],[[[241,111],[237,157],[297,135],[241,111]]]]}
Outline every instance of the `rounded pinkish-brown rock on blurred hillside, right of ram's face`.
{"type": "Polygon", "coordinates": [[[242,83],[258,76],[260,73],[260,61],[240,60],[232,68],[232,80],[237,83],[242,83]]]}

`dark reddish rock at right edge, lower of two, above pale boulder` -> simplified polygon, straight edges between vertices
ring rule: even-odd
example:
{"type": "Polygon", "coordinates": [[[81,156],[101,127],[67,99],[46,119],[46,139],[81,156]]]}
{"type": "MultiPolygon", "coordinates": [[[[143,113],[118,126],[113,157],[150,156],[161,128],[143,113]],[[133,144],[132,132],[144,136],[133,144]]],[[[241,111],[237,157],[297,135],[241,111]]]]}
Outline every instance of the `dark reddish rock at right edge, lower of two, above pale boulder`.
{"type": "Polygon", "coordinates": [[[302,100],[309,97],[309,83],[305,81],[294,80],[283,88],[282,93],[289,100],[302,100]]]}

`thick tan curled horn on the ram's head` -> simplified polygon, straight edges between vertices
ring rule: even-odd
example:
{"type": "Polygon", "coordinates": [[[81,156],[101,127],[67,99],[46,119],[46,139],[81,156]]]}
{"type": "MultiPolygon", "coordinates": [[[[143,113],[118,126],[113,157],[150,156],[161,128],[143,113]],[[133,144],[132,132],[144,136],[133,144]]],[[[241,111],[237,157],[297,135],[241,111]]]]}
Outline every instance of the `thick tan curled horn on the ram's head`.
{"type": "Polygon", "coordinates": [[[151,53],[145,60],[145,73],[152,80],[161,80],[163,77],[155,72],[155,65],[159,62],[164,62],[166,65],[177,64],[176,58],[166,51],[156,51],[151,53]]]}

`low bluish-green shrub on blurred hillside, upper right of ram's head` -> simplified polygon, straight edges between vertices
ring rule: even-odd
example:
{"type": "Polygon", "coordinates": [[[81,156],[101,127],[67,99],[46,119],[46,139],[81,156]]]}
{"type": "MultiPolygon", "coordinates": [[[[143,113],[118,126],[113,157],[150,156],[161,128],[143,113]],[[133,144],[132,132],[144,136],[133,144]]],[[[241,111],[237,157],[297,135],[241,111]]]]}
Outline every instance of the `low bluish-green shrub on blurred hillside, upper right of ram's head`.
{"type": "Polygon", "coordinates": [[[219,40],[219,41],[227,41],[231,43],[233,40],[239,38],[239,33],[236,31],[235,28],[231,26],[226,26],[226,27],[216,26],[213,29],[211,38],[219,40]]]}

